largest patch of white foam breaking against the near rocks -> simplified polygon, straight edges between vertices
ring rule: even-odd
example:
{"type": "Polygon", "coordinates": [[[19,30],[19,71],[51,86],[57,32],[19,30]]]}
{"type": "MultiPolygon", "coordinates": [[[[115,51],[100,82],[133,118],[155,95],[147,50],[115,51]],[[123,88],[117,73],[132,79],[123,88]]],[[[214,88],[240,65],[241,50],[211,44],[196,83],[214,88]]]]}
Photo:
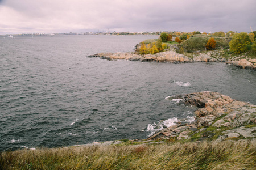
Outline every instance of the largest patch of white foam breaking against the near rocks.
{"type": "Polygon", "coordinates": [[[147,129],[146,130],[142,130],[142,131],[146,131],[146,132],[150,132],[150,134],[148,135],[148,137],[150,137],[151,135],[155,134],[156,131],[162,130],[164,128],[168,128],[172,125],[176,125],[175,122],[179,121],[177,119],[177,117],[174,118],[169,118],[168,120],[164,120],[162,122],[159,122],[159,124],[156,124],[154,122],[154,124],[148,124],[147,125],[147,129]]]}

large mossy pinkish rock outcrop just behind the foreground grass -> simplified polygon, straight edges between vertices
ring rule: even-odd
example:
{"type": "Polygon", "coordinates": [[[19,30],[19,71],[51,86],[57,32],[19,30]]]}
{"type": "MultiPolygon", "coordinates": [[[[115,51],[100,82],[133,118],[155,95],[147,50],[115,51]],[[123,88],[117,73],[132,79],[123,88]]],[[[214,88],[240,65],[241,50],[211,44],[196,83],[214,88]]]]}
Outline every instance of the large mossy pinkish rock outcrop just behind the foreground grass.
{"type": "MultiPolygon", "coordinates": [[[[196,121],[177,123],[155,133],[148,139],[242,139],[256,138],[256,105],[231,99],[218,92],[196,92],[177,95],[175,99],[195,105],[196,121]]],[[[171,98],[171,99],[174,99],[171,98]]]]}

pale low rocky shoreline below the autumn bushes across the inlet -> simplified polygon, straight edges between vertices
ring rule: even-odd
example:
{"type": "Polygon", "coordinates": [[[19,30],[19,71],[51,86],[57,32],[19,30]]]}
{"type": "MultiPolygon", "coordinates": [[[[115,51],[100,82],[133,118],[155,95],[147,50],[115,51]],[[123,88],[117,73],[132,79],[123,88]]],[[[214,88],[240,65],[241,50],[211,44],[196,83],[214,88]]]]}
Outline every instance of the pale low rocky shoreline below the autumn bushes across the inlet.
{"type": "Polygon", "coordinates": [[[242,69],[256,70],[256,59],[240,59],[237,61],[223,61],[217,60],[214,57],[210,57],[208,54],[200,53],[195,57],[190,58],[183,54],[178,54],[175,50],[166,52],[139,55],[136,53],[98,53],[86,57],[98,57],[103,59],[125,59],[129,61],[141,61],[141,62],[170,62],[170,63],[189,63],[189,62],[226,62],[233,66],[240,67],[242,69]]]}

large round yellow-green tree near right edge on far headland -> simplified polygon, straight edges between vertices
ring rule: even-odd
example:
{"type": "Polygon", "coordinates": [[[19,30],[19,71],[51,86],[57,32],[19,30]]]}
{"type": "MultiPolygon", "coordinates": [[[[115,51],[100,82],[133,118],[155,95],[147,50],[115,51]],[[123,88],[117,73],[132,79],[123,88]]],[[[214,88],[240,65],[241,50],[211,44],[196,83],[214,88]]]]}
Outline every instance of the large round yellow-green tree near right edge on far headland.
{"type": "Polygon", "coordinates": [[[250,38],[245,32],[237,33],[229,42],[230,51],[240,54],[246,52],[247,46],[250,44],[250,38]]]}

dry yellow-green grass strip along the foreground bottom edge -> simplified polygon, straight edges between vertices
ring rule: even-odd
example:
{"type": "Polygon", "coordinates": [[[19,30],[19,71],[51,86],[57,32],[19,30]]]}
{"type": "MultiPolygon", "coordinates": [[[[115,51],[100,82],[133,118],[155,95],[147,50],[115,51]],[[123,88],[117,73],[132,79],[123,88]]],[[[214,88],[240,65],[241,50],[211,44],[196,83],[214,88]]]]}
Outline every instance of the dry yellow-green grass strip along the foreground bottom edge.
{"type": "Polygon", "coordinates": [[[255,169],[254,142],[188,142],[6,151],[0,169],[255,169]]]}

